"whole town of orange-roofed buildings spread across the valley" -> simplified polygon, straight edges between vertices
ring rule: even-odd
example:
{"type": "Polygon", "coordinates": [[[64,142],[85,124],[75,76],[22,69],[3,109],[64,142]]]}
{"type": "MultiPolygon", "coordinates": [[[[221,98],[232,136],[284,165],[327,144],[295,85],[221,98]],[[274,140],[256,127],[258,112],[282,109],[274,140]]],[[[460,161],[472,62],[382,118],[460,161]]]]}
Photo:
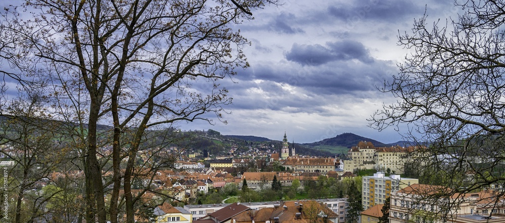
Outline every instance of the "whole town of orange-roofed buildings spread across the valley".
{"type": "MultiPolygon", "coordinates": [[[[219,135],[213,130],[209,132],[219,135]]],[[[134,174],[137,184],[133,192],[143,203],[136,210],[137,222],[447,220],[437,218],[441,208],[437,203],[442,200],[420,199],[421,194],[433,194],[444,190],[443,187],[420,184],[419,179],[406,177],[409,175],[406,167],[413,161],[408,154],[423,150],[425,146],[375,147],[372,142],[360,141],[340,159],[301,155],[294,143],[288,143],[286,133],[278,147],[268,143],[258,145],[257,148],[247,146],[246,151],[237,153],[239,146],[231,144],[232,149],[226,154],[235,152],[236,155],[221,155],[212,159],[204,157],[202,150],[194,148],[168,147],[159,150],[163,156],[179,154],[169,168],[142,168],[148,166],[151,159],[148,153],[153,152],[143,151],[143,155],[139,156],[140,168],[134,174]]],[[[4,160],[20,157],[20,153],[24,152],[5,146],[2,151],[4,160]]],[[[107,149],[104,154],[107,154],[107,149]]],[[[10,174],[20,168],[12,160],[2,161],[2,166],[6,166],[6,169],[7,166],[12,167],[10,174]]],[[[121,171],[124,172],[124,169],[121,171]]],[[[41,212],[39,217],[34,218],[37,221],[52,219],[55,222],[76,222],[79,218],[79,191],[75,188],[79,188],[79,182],[83,182],[83,171],[70,169],[41,173],[47,175],[40,176],[24,188],[11,187],[4,195],[11,200],[18,200],[20,197],[16,195],[21,194],[23,203],[39,204],[37,208],[45,210],[64,211],[37,211],[41,212]],[[63,191],[67,191],[67,194],[61,194],[63,191]],[[34,197],[43,197],[46,201],[38,203],[30,200],[34,197]],[[69,205],[74,208],[69,208],[69,205]]],[[[113,173],[105,171],[103,174],[107,179],[113,173]]],[[[8,177],[4,176],[4,180],[7,182],[8,177]]],[[[5,187],[8,188],[7,184],[5,187]]],[[[111,186],[108,188],[112,189],[111,186]]],[[[450,220],[503,222],[505,215],[501,213],[505,214],[505,207],[491,203],[493,190],[489,188],[456,197],[462,203],[457,209],[449,210],[450,220]]],[[[14,203],[8,205],[9,211],[4,215],[15,214],[12,207],[14,203]]]]}

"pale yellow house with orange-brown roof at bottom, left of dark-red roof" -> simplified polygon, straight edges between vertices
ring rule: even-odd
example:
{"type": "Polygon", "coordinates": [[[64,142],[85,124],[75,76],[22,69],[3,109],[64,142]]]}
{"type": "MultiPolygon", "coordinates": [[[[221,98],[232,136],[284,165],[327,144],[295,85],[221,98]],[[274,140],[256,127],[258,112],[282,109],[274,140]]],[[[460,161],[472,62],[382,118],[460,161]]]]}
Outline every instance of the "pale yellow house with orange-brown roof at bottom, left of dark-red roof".
{"type": "Polygon", "coordinates": [[[182,207],[173,207],[167,202],[156,206],[153,213],[157,216],[156,223],[191,223],[193,221],[189,211],[182,207]]]}

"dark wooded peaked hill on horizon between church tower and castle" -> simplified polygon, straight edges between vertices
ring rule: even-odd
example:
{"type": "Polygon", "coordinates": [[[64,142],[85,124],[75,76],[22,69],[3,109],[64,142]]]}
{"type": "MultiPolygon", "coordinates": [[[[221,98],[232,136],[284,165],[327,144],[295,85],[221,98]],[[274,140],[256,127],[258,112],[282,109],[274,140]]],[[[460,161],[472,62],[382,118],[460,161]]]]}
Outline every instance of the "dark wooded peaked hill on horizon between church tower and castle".
{"type": "Polygon", "coordinates": [[[358,136],[358,135],[355,135],[355,134],[349,133],[349,132],[342,133],[342,134],[340,134],[340,135],[338,135],[336,137],[333,137],[333,138],[324,139],[324,140],[319,141],[319,142],[309,143],[309,144],[305,144],[305,145],[307,145],[309,147],[315,147],[315,146],[344,146],[344,147],[350,148],[350,147],[358,145],[358,143],[361,142],[361,141],[372,142],[375,147],[386,147],[387,146],[386,144],[381,143],[379,141],[372,140],[372,139],[369,139],[369,138],[365,138],[365,137],[362,137],[362,136],[358,136]]]}

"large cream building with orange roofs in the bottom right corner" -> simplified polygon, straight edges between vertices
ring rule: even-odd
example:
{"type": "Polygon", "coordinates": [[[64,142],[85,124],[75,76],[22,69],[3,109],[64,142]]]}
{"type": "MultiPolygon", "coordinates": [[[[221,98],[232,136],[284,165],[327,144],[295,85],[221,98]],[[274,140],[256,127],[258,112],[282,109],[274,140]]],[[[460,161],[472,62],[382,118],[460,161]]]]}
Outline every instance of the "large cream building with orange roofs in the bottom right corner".
{"type": "Polygon", "coordinates": [[[441,186],[413,184],[391,193],[389,222],[505,222],[505,203],[493,191],[433,196],[451,194],[448,190],[441,186]],[[447,193],[440,193],[444,191],[447,193]],[[449,203],[454,206],[447,208],[449,203]]]}

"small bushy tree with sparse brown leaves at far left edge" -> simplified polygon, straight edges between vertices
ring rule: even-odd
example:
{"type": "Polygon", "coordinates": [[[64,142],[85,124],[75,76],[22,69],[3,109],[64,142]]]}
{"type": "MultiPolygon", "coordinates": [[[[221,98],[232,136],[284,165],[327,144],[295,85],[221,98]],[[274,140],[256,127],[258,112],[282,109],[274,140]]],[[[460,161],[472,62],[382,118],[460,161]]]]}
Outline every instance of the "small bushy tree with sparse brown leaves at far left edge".
{"type": "Polygon", "coordinates": [[[65,124],[47,119],[48,109],[38,95],[17,98],[0,112],[0,154],[15,161],[11,185],[16,197],[13,222],[34,222],[44,215],[46,198],[40,189],[49,175],[64,165],[68,145],[62,133],[65,124]]]}

